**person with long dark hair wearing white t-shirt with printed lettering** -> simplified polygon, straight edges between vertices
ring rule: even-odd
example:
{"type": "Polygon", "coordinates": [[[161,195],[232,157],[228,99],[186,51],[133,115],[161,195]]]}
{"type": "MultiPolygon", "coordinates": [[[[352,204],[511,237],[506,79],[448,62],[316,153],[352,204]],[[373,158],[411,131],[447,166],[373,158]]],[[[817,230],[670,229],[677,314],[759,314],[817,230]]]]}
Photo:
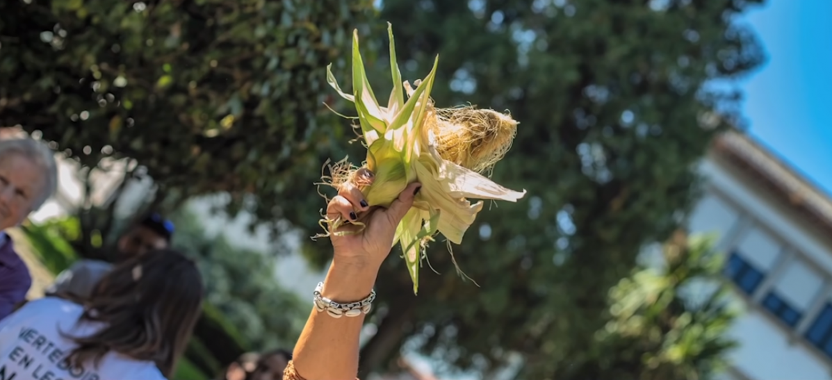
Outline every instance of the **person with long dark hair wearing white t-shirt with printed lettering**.
{"type": "Polygon", "coordinates": [[[0,370],[14,380],[165,380],[191,338],[204,292],[184,255],[137,255],[109,271],[88,299],[47,296],[0,321],[0,370]]]}

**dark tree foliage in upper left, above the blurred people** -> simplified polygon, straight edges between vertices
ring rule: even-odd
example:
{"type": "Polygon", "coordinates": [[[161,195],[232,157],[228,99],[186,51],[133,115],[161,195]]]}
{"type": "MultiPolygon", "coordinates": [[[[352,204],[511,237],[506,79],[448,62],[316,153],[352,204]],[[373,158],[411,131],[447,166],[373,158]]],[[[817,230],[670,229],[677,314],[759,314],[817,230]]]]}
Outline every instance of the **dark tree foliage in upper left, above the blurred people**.
{"type": "Polygon", "coordinates": [[[178,200],[224,191],[239,210],[254,194],[261,220],[294,217],[314,206],[287,195],[348,129],[321,105],[324,67],[344,67],[370,12],[367,0],[2,2],[0,126],[87,167],[135,159],[178,200]]]}

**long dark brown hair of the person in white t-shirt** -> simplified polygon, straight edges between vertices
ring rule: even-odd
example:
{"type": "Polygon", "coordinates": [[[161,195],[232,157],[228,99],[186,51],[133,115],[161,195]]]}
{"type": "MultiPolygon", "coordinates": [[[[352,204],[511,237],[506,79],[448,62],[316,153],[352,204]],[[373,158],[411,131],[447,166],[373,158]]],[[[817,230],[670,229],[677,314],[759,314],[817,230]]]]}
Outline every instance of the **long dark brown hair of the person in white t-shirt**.
{"type": "Polygon", "coordinates": [[[156,363],[170,377],[201,313],[204,289],[199,269],[182,254],[164,249],[116,266],[82,299],[78,323],[104,323],[69,354],[72,366],[98,363],[113,351],[156,363]]]}

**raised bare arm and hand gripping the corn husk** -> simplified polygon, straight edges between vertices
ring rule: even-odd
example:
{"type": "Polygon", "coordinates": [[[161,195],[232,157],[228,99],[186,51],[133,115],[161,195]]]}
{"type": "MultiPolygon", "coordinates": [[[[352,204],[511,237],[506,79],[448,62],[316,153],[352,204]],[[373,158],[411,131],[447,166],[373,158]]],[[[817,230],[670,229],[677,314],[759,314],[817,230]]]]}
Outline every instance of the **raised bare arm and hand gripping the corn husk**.
{"type": "MultiPolygon", "coordinates": [[[[361,304],[372,292],[381,263],[393,245],[396,226],[413,205],[420,185],[411,184],[389,209],[369,210],[361,192],[349,185],[329,202],[327,216],[334,220],[356,220],[355,213],[369,212],[368,227],[359,234],[332,236],[334,257],[320,292],[321,299],[345,305],[342,310],[356,310],[334,318],[339,311],[312,309],[303,333],[295,345],[293,361],[286,368],[284,380],[353,380],[358,373],[359,333],[364,323],[361,304]]],[[[364,220],[364,218],[362,218],[364,220]]],[[[346,227],[349,229],[349,226],[346,227]]]]}

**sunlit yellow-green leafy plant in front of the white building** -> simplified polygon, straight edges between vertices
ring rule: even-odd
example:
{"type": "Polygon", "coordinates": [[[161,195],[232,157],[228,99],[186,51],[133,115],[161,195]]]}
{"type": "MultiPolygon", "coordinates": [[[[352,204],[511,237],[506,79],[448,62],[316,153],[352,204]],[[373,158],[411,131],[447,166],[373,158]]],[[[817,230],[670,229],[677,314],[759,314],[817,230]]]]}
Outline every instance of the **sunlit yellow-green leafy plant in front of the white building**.
{"type": "Polygon", "coordinates": [[[587,337],[595,349],[552,378],[701,380],[726,369],[736,314],[721,279],[724,256],[710,239],[677,234],[656,259],[610,290],[607,323],[587,337]]]}

